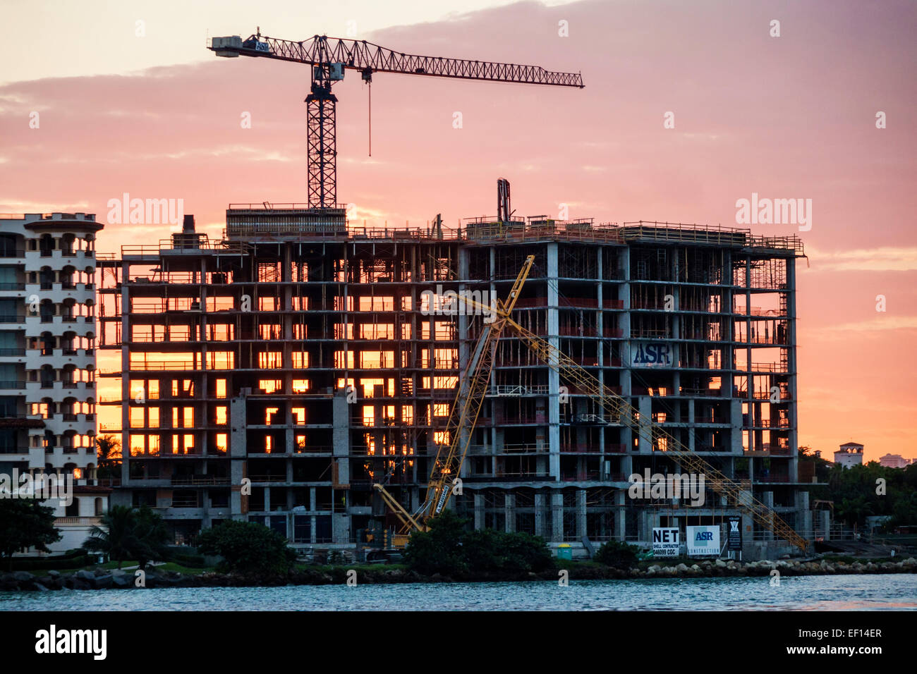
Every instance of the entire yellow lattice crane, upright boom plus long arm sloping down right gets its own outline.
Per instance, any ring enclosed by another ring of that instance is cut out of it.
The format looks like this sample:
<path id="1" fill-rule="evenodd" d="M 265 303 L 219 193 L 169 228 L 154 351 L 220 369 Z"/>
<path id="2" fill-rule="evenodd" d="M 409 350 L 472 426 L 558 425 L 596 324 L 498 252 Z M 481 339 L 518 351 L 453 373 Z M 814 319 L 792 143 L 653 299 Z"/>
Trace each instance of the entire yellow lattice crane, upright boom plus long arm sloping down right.
<path id="1" fill-rule="evenodd" d="M 746 514 L 749 514 L 757 523 L 757 525 L 773 532 L 775 536 L 779 536 L 779 538 L 787 541 L 790 543 L 790 545 L 799 547 L 804 554 L 809 547 L 809 541 L 794 531 L 793 528 L 784 522 L 777 513 L 768 507 L 766 503 L 762 503 L 761 501 L 757 500 L 751 492 L 742 490 L 741 487 L 735 483 L 735 481 L 727 478 L 722 471 L 714 468 L 708 461 L 702 459 L 702 457 L 698 456 L 695 452 L 692 452 L 689 447 L 685 447 L 678 438 L 672 436 L 661 425 L 653 424 L 651 419 L 641 418 L 639 412 L 633 405 L 628 403 L 622 396 L 610 391 L 608 388 L 603 386 L 602 382 L 597 380 L 591 374 L 591 372 L 589 372 L 589 370 L 581 367 L 579 363 L 569 358 L 569 356 L 552 345 L 546 339 L 537 337 L 534 333 L 530 332 L 525 327 L 520 326 L 512 318 L 510 318 L 509 313 L 512 311 L 513 305 L 515 304 L 515 296 L 518 294 L 518 290 L 521 288 L 522 282 L 525 282 L 525 277 L 528 276 L 528 272 L 531 270 L 533 260 L 534 256 L 529 256 L 529 258 L 526 260 L 523 271 L 520 272 L 519 277 L 514 283 L 514 290 L 510 293 L 508 302 L 501 305 L 501 311 L 498 312 L 498 317 L 494 321 L 494 324 L 499 323 L 498 331 L 496 333 L 485 332 L 479 340 L 479 346 L 481 346 L 481 343 L 485 340 L 495 344 L 494 340 L 499 339 L 503 329 L 506 326 L 511 326 L 514 328 L 516 336 L 522 340 L 525 346 L 532 350 L 540 359 L 542 359 L 549 368 L 557 371 L 559 376 L 573 383 L 580 390 L 586 392 L 592 400 L 594 400 L 596 403 L 599 403 L 602 408 L 609 414 L 610 421 L 622 423 L 629 426 L 638 436 L 646 439 L 646 441 L 650 443 L 651 447 L 657 445 L 659 440 L 662 440 L 666 447 L 665 456 L 669 459 L 674 459 L 682 470 L 686 470 L 698 475 L 703 475 L 704 481 L 710 484 L 713 492 L 725 496 L 727 501 L 735 503 L 737 507 L 742 509 Z M 470 304 L 478 304 L 470 299 L 465 299 L 465 302 Z M 481 304 L 478 304 L 478 306 L 480 307 Z M 476 349 L 476 354 L 477 353 L 478 350 Z M 468 370 L 466 370 L 467 373 L 470 372 L 470 367 Z M 491 369 L 492 361 L 488 360 L 486 371 L 481 369 L 474 370 L 474 377 L 470 379 L 466 375 L 465 386 L 467 388 L 473 389 L 476 392 L 480 391 L 480 394 L 474 408 L 473 419 L 469 425 L 461 425 L 463 421 L 467 423 L 468 418 L 468 415 L 463 412 L 462 414 L 458 415 L 456 422 L 457 425 L 455 430 L 453 430 L 453 426 L 451 425 L 452 417 L 450 416 L 449 428 L 452 432 L 452 435 L 449 436 L 451 443 L 448 456 L 455 456 L 455 449 L 458 448 L 459 435 L 462 435 L 466 439 L 462 445 L 461 459 L 458 459 L 458 463 L 455 464 L 455 470 L 448 473 L 448 475 L 455 475 L 458 477 L 458 470 L 461 468 L 461 461 L 465 457 L 464 452 L 467 451 L 468 448 L 468 437 L 470 436 L 471 429 L 474 427 L 474 422 L 477 421 L 478 412 L 480 412 L 481 403 L 483 402 L 483 392 L 486 390 L 487 383 L 490 381 Z M 482 380 L 481 377 L 483 377 Z M 456 397 L 456 406 L 453 408 L 453 416 L 455 415 L 455 410 L 458 408 L 458 403 L 461 400 L 461 391 L 462 388 L 459 386 L 459 395 Z M 466 405 L 467 404 L 468 403 L 466 403 Z M 466 428 L 467 430 L 464 430 Z M 437 455 L 437 464 L 438 462 L 439 456 Z M 453 464 L 449 464 L 450 468 L 452 465 Z M 436 465 L 434 466 L 434 474 L 437 474 Z M 445 485 L 445 477 L 445 475 L 441 474 L 438 481 L 435 482 L 433 476 L 431 476 L 430 487 L 427 492 L 427 503 L 425 503 L 425 509 L 422 509 L 421 511 L 422 514 L 425 514 L 422 522 L 417 522 L 414 520 L 414 518 L 407 514 L 401 507 L 401 504 L 394 501 L 394 499 L 391 497 L 391 494 L 385 492 L 381 485 L 375 486 L 382 493 L 383 498 L 386 496 L 388 497 L 386 498 L 386 503 L 389 503 L 389 505 L 395 511 L 395 514 L 399 515 L 408 530 L 425 531 L 426 521 L 429 519 L 429 517 L 436 516 L 436 514 L 439 514 L 442 511 L 442 507 L 440 506 L 433 512 L 430 512 L 426 506 L 428 503 L 430 503 L 431 494 L 442 493 Z M 451 492 L 451 489 L 446 491 Z M 440 500 L 442 505 L 445 505 L 448 500 L 448 494 L 441 496 Z M 405 517 L 404 515 L 407 516 Z"/>

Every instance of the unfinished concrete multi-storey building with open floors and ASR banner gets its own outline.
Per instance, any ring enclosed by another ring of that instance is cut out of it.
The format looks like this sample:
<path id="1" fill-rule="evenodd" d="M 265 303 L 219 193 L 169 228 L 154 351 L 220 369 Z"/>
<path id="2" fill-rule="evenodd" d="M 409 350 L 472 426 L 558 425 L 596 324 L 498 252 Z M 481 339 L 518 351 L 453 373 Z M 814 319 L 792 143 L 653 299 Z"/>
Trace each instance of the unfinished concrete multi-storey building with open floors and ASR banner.
<path id="1" fill-rule="evenodd" d="M 383 230 L 348 227 L 343 209 L 231 204 L 218 241 L 186 216 L 181 234 L 99 260 L 100 347 L 121 354 L 102 373 L 120 384 L 102 400 L 121 411 L 113 503 L 158 509 L 177 542 L 227 518 L 313 549 L 396 530 L 372 485 L 420 507 L 487 320 L 439 300 L 503 298 L 534 255 L 514 320 L 668 435 L 635 433 L 507 332 L 449 506 L 476 527 L 587 549 L 743 514 L 709 485 L 702 506 L 629 497 L 632 474 L 679 471 L 675 437 L 811 532 L 812 475 L 797 462 L 802 254 L 795 236 L 508 209 L 456 230 Z M 742 528 L 746 558 L 781 549 L 751 518 Z"/>

